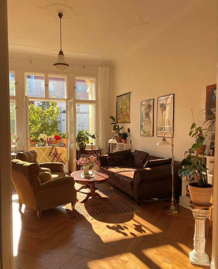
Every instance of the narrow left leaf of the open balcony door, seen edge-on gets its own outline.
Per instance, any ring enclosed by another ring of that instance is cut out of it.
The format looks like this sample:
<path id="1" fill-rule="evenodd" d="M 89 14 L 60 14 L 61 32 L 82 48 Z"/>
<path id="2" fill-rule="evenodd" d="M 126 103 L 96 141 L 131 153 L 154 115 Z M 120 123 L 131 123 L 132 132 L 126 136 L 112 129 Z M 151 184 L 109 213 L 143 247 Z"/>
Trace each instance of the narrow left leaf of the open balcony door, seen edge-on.
<path id="1" fill-rule="evenodd" d="M 29 106 L 27 96 L 23 99 L 23 139 L 24 151 L 29 151 Z"/>

